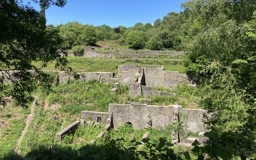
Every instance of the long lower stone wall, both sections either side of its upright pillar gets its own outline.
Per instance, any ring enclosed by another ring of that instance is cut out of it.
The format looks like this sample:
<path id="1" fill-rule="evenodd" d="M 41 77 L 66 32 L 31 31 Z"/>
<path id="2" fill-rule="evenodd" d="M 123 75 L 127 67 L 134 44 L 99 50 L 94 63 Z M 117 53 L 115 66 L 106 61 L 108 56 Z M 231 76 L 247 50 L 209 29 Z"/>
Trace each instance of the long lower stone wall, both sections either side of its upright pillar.
<path id="1" fill-rule="evenodd" d="M 179 105 L 157 106 L 131 103 L 110 104 L 109 113 L 113 115 L 113 127 L 129 122 L 135 129 L 142 129 L 150 120 L 152 127 L 163 129 L 179 119 L 187 131 L 200 133 L 205 131 L 203 119 L 207 111 L 183 109 Z"/>

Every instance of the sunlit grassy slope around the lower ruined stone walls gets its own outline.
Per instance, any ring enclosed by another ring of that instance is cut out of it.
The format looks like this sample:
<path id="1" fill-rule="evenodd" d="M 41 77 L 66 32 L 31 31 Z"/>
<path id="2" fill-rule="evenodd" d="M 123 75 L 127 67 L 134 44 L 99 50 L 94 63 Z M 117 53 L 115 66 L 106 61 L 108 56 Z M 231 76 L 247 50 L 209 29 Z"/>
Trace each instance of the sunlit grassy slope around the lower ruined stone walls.
<path id="1" fill-rule="evenodd" d="M 53 146 L 58 146 L 62 149 L 70 147 L 71 149 L 75 149 L 75 151 L 83 149 L 91 139 L 95 139 L 95 137 L 103 131 L 102 126 L 81 126 L 77 129 L 74 135 L 66 136 L 61 142 L 56 140 L 55 135 L 61 131 L 61 129 L 64 129 L 67 125 L 79 119 L 82 110 L 107 111 L 109 103 L 123 103 L 123 101 L 126 101 L 127 99 L 130 100 L 127 87 L 121 87 L 118 94 L 114 95 L 109 93 L 111 88 L 112 84 L 101 84 L 97 81 L 91 81 L 89 83 L 75 81 L 73 83 L 60 84 L 57 87 L 53 87 L 53 90 L 48 96 L 45 96 L 41 91 L 37 91 L 35 94 L 39 96 L 39 99 L 46 99 L 48 103 L 45 103 L 43 106 L 39 105 L 35 107 L 35 118 L 33 119 L 27 134 L 23 138 L 21 153 L 27 155 L 28 153 L 33 153 L 33 150 L 40 150 L 40 147 L 49 149 L 49 147 Z M 189 91 L 189 87 L 184 85 L 177 89 L 177 94 L 191 99 L 189 96 L 195 96 L 196 89 L 194 89 L 193 92 Z M 169 105 L 174 101 L 174 99 L 171 99 L 170 97 L 149 98 L 153 99 L 153 104 L 167 103 L 166 105 Z M 41 101 L 39 101 L 39 104 L 40 103 Z M 13 109 L 13 111 L 15 114 L 24 112 L 22 109 L 17 108 Z M 8 118 L 8 112 L 3 115 L 11 121 L 11 119 Z M 21 117 L 21 119 L 24 119 L 24 116 Z M 24 123 L 17 122 L 19 121 L 16 121 L 15 124 L 17 125 L 13 126 L 13 131 L 15 131 L 14 134 L 16 134 L 13 135 L 13 139 L 15 140 L 6 139 L 3 141 L 4 143 L 0 142 L 0 144 L 3 145 L 7 145 L 7 143 L 11 145 L 9 148 L 3 148 L 5 153 L 9 153 L 15 147 L 19 134 L 24 127 Z M 9 128 L 9 130 L 10 129 L 11 128 Z M 158 141 L 159 137 L 167 137 L 168 141 L 171 141 L 169 131 L 158 131 L 156 129 L 149 129 L 149 131 L 149 138 L 152 142 Z M 121 127 L 120 129 L 111 131 L 109 135 L 113 139 L 123 137 L 127 141 L 129 141 L 131 135 L 134 135 L 135 139 L 140 141 L 143 133 L 145 133 L 145 130 L 143 129 L 133 130 L 129 127 Z M 11 133 L 9 135 L 11 135 Z M 129 145 L 127 141 L 124 145 Z M 104 143 L 104 141 L 99 141 L 97 145 L 104 145 Z M 30 156 L 32 155 L 29 155 L 29 157 Z"/>

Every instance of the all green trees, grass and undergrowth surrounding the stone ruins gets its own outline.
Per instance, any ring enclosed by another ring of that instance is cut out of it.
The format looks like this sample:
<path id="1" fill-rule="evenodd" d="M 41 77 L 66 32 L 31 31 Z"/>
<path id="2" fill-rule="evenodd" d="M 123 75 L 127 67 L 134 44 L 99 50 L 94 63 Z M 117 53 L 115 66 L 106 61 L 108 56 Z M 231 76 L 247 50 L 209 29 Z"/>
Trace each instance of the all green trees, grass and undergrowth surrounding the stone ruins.
<path id="1" fill-rule="evenodd" d="M 55 133 L 71 123 L 82 109 L 106 111 L 108 103 L 122 103 L 129 99 L 127 89 L 110 95 L 111 85 L 98 82 L 85 84 L 73 82 L 47 90 L 49 95 L 41 94 L 49 104 L 45 101 L 45 105 L 36 110 L 37 117 L 29 128 L 25 142 L 23 141 L 23 154 L 27 153 L 25 157 L 34 159 L 58 159 L 59 157 L 64 159 L 256 159 L 255 1 L 191 0 L 183 3 L 181 13 L 169 13 L 162 20 L 157 19 L 153 25 L 137 23 L 133 27 L 119 26 L 115 29 L 107 25 L 93 27 L 77 22 L 58 27 L 46 27 L 45 9 L 49 7 L 47 4 L 53 1 L 45 2 L 47 2 L 46 5 L 41 6 L 43 10 L 38 13 L 31 7 L 20 6 L 17 1 L 1 1 L 0 16 L 3 21 L 0 27 L 3 32 L 0 39 L 0 71 L 18 70 L 20 72 L 14 77 L 21 80 L 11 81 L 13 85 L 9 85 L 1 77 L 1 104 L 5 104 L 7 97 L 12 96 L 25 107 L 27 102 L 25 95 L 35 89 L 38 81 L 49 89 L 51 77 L 38 69 L 41 67 L 53 69 L 53 64 L 47 65 L 53 60 L 56 60 L 57 66 L 65 67 L 67 64 L 65 57 L 56 52 L 62 47 L 73 49 L 78 54 L 83 52 L 85 45 L 96 45 L 97 41 L 101 41 L 99 44 L 109 45 L 107 42 L 102 42 L 108 40 L 117 42 L 115 46 L 125 49 L 145 49 L 146 47 L 157 50 L 184 50 L 187 55 L 185 60 L 187 74 L 193 78 L 193 81 L 199 83 L 199 87 L 180 85 L 176 89 L 177 101 L 185 107 L 200 106 L 209 110 L 211 116 L 206 122 L 209 131 L 205 136 L 211 143 L 200 145 L 195 141 L 192 153 L 177 153 L 173 150 L 169 139 L 151 138 L 152 141 L 145 141 L 145 147 L 141 148 L 140 139 L 137 139 L 141 132 L 135 132 L 127 126 L 111 131 L 99 145 L 77 144 L 87 143 L 89 139 L 85 136 L 85 140 L 80 141 L 78 135 L 81 135 L 81 132 L 86 131 L 94 136 L 101 127 L 89 128 L 89 130 L 81 127 L 75 133 L 77 135 L 67 136 L 65 141 L 58 143 L 54 139 Z M 62 2 L 60 6 L 65 5 L 65 1 Z M 56 5 L 56 3 L 53 4 Z M 13 25 L 15 27 L 9 27 Z M 62 39 L 57 35 L 58 32 Z M 62 40 L 64 40 L 63 43 Z M 69 61 L 70 66 L 77 71 L 114 71 L 120 64 L 136 62 L 142 66 L 163 64 L 167 70 L 175 69 L 185 72 L 181 65 L 167 63 L 171 59 L 160 61 L 161 58 L 154 60 L 148 58 L 149 60 L 145 61 L 72 57 Z M 87 65 L 81 65 L 82 63 Z M 36 77 L 29 73 L 30 69 L 37 73 Z M 171 97 L 152 97 L 152 99 L 152 103 L 157 104 L 174 101 Z M 7 108 L 5 111 L 12 111 L 12 109 Z M 27 113 L 17 109 L 14 113 L 17 114 L 16 111 L 22 113 L 21 118 L 13 117 L 12 119 L 5 111 L 1 113 L 3 117 L 1 121 L 11 125 L 9 128 L 1 127 L 0 130 L 1 137 L 4 137 L 0 144 L 7 146 L 3 148 L 1 156 L 8 154 L 6 159 L 13 159 L 13 157 L 19 157 L 12 155 L 13 139 L 17 139 L 24 125 L 22 122 L 17 123 L 17 120 L 23 119 Z M 151 133 L 153 132 L 152 130 Z M 13 139 L 9 139 L 3 133 Z M 136 140 L 128 140 L 132 134 Z M 156 131 L 155 135 L 160 133 Z M 116 138 L 112 139 L 111 136 Z M 166 135 L 163 134 L 163 136 Z"/>

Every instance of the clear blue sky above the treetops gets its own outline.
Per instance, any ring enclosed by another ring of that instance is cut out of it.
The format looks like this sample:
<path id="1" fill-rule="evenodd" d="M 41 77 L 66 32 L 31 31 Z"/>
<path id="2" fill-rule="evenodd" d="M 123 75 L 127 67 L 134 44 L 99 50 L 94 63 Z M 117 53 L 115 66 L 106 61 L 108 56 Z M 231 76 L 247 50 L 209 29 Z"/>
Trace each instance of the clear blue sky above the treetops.
<path id="1" fill-rule="evenodd" d="M 23 0 L 27 3 L 29 0 Z M 123 25 L 153 23 L 171 11 L 180 12 L 186 0 L 67 0 L 64 8 L 51 6 L 46 11 L 47 24 L 78 21 L 89 25 Z M 39 9 L 39 5 L 31 3 Z"/>

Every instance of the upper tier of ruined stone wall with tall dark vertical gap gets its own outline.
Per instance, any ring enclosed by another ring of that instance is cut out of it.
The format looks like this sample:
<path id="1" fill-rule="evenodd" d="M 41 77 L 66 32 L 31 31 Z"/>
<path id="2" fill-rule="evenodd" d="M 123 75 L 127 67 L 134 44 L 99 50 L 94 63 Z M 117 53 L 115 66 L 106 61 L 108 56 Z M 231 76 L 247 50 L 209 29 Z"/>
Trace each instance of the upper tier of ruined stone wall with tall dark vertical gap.
<path id="1" fill-rule="evenodd" d="M 91 72 L 78 73 L 77 76 L 68 75 L 65 72 L 59 72 L 59 81 L 90 81 L 97 80 L 103 83 L 115 83 L 117 85 L 127 85 L 130 87 L 130 95 L 171 95 L 166 91 L 156 91 L 154 87 L 175 88 L 181 83 L 193 85 L 186 74 L 177 71 L 164 71 L 163 66 L 151 65 L 145 68 L 139 65 L 119 65 L 118 73 L 112 72 Z M 115 93 L 117 87 L 113 87 L 111 92 Z"/>

